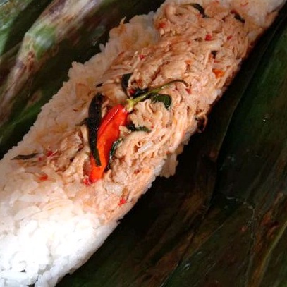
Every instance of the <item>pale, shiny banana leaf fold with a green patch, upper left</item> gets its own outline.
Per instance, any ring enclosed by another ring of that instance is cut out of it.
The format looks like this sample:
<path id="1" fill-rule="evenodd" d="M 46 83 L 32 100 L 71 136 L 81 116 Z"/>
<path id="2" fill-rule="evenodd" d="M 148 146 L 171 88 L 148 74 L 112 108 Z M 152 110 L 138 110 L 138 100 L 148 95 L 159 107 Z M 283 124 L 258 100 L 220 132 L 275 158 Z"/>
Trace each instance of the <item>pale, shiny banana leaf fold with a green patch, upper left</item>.
<path id="1" fill-rule="evenodd" d="M 28 94 L 30 91 L 21 94 L 22 88 L 31 85 L 28 80 L 44 64 L 49 65 L 49 59 L 57 54 L 63 39 L 67 37 L 71 39 L 71 33 L 79 26 L 83 26 L 85 17 L 97 8 L 97 1 L 54 0 L 44 10 L 44 13 L 25 33 L 15 64 L 8 73 L 5 84 L 1 86 L 0 120 L 2 123 L 8 118 L 13 118 L 13 114 L 19 114 L 19 109 L 25 112 L 25 105 L 31 104 L 29 99 L 32 96 Z M 72 41 L 77 42 L 76 35 L 73 36 Z M 32 97 L 32 103 L 34 102 L 37 100 Z"/>

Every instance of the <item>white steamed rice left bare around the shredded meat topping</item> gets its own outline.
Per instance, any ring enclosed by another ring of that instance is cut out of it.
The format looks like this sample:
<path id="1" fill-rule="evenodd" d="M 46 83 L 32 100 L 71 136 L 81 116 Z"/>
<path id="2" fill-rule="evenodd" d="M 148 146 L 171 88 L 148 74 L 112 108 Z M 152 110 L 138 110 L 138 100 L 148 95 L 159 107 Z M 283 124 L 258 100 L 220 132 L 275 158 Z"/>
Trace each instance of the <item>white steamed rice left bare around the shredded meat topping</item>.
<path id="1" fill-rule="evenodd" d="M 246 9 L 243 2 L 247 1 L 221 0 L 224 5 Z M 283 1 L 248 2 L 248 13 L 264 26 L 267 13 Z M 43 142 L 56 142 L 63 132 L 82 121 L 85 115 L 73 110 L 83 110 L 86 101 L 77 97 L 75 83 L 83 83 L 92 90 L 94 79 L 102 81 L 111 61 L 121 51 L 130 49 L 130 43 L 136 50 L 156 42 L 158 35 L 152 25 L 153 16 L 154 13 L 135 16 L 125 25 L 126 32 L 117 35 L 111 31 L 111 38 L 101 47 L 101 53 L 84 64 L 73 63 L 68 82 L 43 107 L 23 141 L 1 160 L 0 287 L 33 283 L 36 287 L 55 286 L 61 277 L 80 267 L 116 228 L 118 222 L 102 224 L 92 209 L 83 207 L 77 197 L 80 188 L 76 183 L 65 183 L 63 178 L 49 170 L 51 180 L 41 182 L 32 171 L 19 168 L 11 159 L 18 154 L 41 151 Z M 173 173 L 176 158 L 171 157 L 171 161 Z"/>

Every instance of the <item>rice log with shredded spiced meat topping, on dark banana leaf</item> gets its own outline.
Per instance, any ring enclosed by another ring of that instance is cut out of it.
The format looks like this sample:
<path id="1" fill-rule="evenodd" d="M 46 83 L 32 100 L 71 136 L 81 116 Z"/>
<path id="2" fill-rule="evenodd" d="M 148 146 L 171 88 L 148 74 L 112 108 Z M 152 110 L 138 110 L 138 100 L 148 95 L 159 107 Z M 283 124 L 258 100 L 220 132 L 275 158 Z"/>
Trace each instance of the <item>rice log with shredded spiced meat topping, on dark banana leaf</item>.
<path id="1" fill-rule="evenodd" d="M 204 128 L 281 2 L 166 1 L 111 30 L 102 53 L 73 63 L 70 80 L 0 163 L 0 286 L 55 286 L 99 248 L 156 176 L 175 172 L 176 154 Z M 94 95 L 104 97 L 104 116 L 136 91 L 172 81 L 161 90 L 169 109 L 150 97 L 136 104 L 128 122 L 146 130 L 121 126 L 110 169 L 91 182 L 83 121 Z"/>

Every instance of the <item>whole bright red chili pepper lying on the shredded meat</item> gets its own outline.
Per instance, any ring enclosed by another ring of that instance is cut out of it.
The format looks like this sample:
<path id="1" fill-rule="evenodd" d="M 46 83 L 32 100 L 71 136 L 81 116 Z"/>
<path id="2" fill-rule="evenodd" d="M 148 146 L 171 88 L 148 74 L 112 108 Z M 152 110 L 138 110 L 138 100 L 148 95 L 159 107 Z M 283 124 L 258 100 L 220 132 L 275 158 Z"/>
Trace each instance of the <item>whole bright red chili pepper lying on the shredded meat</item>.
<path id="1" fill-rule="evenodd" d="M 99 151 L 99 159 L 101 165 L 97 166 L 94 157 L 90 156 L 91 172 L 90 181 L 95 181 L 102 178 L 102 174 L 109 164 L 109 152 L 113 143 L 118 140 L 120 135 L 120 126 L 126 126 L 128 111 L 121 104 L 113 106 L 106 116 L 102 118 L 97 132 L 97 149 Z"/>

